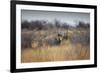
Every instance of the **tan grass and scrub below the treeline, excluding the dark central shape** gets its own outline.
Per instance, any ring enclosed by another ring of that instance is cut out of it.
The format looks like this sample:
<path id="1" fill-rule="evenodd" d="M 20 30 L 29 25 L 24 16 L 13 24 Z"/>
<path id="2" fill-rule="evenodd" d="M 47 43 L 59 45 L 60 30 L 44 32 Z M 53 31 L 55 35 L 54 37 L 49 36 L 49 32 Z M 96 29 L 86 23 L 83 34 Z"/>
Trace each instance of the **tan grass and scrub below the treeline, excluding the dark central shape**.
<path id="1" fill-rule="evenodd" d="M 22 44 L 21 62 L 69 61 L 90 58 L 90 46 L 87 43 L 89 30 L 59 29 L 58 31 L 66 33 L 66 39 L 61 40 L 60 44 L 50 45 L 47 40 L 57 37 L 57 30 L 23 30 L 22 41 L 25 44 Z"/>

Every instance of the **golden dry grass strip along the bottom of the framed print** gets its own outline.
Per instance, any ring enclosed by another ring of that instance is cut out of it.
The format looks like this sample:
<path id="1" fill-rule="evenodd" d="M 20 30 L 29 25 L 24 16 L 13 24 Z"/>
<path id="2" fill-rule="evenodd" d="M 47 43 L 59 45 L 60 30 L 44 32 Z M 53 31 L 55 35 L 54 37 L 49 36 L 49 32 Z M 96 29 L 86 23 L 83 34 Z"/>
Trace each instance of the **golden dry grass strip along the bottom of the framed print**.
<path id="1" fill-rule="evenodd" d="M 90 58 L 89 46 L 80 43 L 72 45 L 69 40 L 59 46 L 42 46 L 36 49 L 22 50 L 21 62 L 45 62 L 45 61 L 68 61 L 85 60 Z"/>

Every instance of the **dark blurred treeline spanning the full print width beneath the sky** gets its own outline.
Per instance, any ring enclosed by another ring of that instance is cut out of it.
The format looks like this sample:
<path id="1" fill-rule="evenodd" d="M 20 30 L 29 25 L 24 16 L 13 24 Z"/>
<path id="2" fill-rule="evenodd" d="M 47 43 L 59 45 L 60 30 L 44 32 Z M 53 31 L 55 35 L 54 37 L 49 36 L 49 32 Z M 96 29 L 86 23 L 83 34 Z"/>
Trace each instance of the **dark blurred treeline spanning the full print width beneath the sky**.
<path id="1" fill-rule="evenodd" d="M 41 30 L 41 29 L 51 29 L 51 28 L 64 28 L 64 29 L 85 28 L 87 29 L 87 28 L 90 28 L 90 24 L 79 21 L 78 24 L 74 27 L 74 26 L 71 26 L 71 24 L 68 24 L 65 22 L 62 23 L 58 20 L 55 20 L 54 22 L 48 22 L 44 20 L 35 20 L 35 21 L 28 22 L 27 20 L 25 20 L 21 23 L 21 28 L 28 29 L 28 30 L 33 30 L 33 29 Z"/>

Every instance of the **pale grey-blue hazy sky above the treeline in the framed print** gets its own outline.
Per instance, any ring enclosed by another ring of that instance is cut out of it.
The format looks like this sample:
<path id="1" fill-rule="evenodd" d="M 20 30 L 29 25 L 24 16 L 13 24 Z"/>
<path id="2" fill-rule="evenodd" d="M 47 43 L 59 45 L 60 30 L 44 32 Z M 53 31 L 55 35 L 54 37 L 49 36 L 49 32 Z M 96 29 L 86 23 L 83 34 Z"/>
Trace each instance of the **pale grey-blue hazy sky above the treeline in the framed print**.
<path id="1" fill-rule="evenodd" d="M 67 22 L 72 26 L 78 21 L 90 23 L 89 13 L 76 12 L 55 12 L 55 11 L 36 11 L 36 10 L 21 10 L 21 18 L 23 20 L 47 20 L 53 22 L 55 19 L 61 22 Z"/>

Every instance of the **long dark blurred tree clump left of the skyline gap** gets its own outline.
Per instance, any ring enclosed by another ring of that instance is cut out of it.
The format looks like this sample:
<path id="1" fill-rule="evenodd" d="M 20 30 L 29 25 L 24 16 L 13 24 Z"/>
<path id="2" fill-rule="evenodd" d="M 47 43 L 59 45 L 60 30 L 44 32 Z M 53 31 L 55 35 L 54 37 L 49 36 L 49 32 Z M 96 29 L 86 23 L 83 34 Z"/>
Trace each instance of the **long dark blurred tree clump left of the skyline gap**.
<path id="1" fill-rule="evenodd" d="M 54 20 L 54 22 L 43 21 L 43 20 L 35 20 L 28 22 L 27 20 L 22 21 L 21 28 L 28 30 L 47 30 L 51 28 L 64 28 L 68 29 L 69 25 L 65 22 L 60 22 L 58 20 Z"/>

